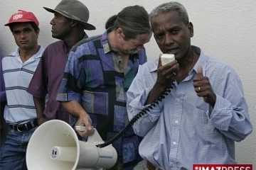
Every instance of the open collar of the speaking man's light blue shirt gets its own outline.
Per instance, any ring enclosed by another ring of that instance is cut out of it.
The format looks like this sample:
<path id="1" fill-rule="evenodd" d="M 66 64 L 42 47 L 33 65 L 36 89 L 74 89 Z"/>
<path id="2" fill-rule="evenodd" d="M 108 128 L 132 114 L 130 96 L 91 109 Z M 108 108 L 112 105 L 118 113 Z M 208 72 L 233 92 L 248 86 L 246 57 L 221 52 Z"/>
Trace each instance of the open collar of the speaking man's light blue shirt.
<path id="1" fill-rule="evenodd" d="M 197 73 L 198 67 L 201 65 L 203 68 L 203 75 L 205 75 L 207 57 L 206 57 L 206 55 L 203 54 L 200 47 L 196 47 L 193 45 L 191 45 L 191 47 L 192 47 L 192 50 L 199 55 L 198 61 L 194 65 L 193 70 Z M 158 63 L 158 60 L 157 60 L 157 63 Z M 158 64 L 156 64 L 156 66 L 153 69 L 151 69 L 150 72 L 156 72 L 157 66 L 158 66 Z"/>

